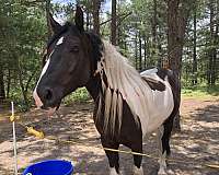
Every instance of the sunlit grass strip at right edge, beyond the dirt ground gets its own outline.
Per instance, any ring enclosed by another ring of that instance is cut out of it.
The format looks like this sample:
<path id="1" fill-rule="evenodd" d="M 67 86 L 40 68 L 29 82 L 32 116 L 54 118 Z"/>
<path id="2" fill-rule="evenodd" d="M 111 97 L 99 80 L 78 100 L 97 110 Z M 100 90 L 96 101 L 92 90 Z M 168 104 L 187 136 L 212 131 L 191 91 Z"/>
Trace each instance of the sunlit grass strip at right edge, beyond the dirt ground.
<path id="1" fill-rule="evenodd" d="M 196 97 L 196 98 L 210 98 L 219 97 L 219 85 L 208 86 L 193 86 L 182 89 L 183 97 Z"/>

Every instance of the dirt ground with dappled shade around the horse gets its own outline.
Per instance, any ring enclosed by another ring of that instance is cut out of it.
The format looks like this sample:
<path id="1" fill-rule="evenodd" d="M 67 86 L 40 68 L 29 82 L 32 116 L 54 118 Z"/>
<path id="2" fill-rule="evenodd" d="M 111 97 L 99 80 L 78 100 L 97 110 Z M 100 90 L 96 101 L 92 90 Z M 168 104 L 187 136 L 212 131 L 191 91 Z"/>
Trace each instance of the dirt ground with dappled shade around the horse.
<path id="1" fill-rule="evenodd" d="M 27 135 L 16 124 L 18 161 L 20 173 L 33 163 L 49 159 L 71 161 L 78 175 L 107 175 L 107 160 L 101 148 L 100 137 L 92 119 L 92 103 L 72 104 L 60 108 L 60 117 L 46 117 L 44 112 L 33 109 L 21 115 L 20 122 L 43 130 L 45 139 Z M 3 115 L 4 114 L 4 115 Z M 170 175 L 219 175 L 219 168 L 206 164 L 219 164 L 219 98 L 183 100 L 182 131 L 172 137 Z M 76 141 L 64 143 L 49 137 Z M 120 147 L 123 150 L 128 150 Z M 154 136 L 143 142 L 145 153 L 157 156 Z M 132 156 L 120 154 L 123 174 L 131 175 Z M 143 158 L 145 175 L 155 175 L 157 160 Z M 0 108 L 0 175 L 13 174 L 12 124 Z"/>

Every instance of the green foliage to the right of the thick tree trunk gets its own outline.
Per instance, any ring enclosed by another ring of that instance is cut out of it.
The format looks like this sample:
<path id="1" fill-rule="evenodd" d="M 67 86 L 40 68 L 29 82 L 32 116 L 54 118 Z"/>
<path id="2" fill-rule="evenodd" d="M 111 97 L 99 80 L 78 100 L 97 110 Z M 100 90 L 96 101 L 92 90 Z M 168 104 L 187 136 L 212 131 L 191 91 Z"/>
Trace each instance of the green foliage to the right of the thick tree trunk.
<path id="1" fill-rule="evenodd" d="M 212 10 L 210 12 L 210 5 Z M 195 74 L 193 72 L 193 58 L 194 58 L 194 14 L 196 12 L 197 28 L 196 28 L 196 57 L 197 57 L 197 79 L 198 84 L 209 83 L 209 74 L 212 77 L 217 84 L 219 75 L 219 35 L 217 28 L 219 27 L 219 1 L 217 0 L 197 0 L 194 4 L 189 16 L 188 30 L 186 34 L 186 42 L 183 56 L 183 71 L 182 78 L 184 85 L 189 86 L 194 80 Z M 210 16 L 210 13 L 214 15 Z M 211 19 L 211 20 L 210 20 Z M 210 26 L 214 26 L 212 28 Z M 216 52 L 216 60 L 210 61 L 214 52 Z"/>

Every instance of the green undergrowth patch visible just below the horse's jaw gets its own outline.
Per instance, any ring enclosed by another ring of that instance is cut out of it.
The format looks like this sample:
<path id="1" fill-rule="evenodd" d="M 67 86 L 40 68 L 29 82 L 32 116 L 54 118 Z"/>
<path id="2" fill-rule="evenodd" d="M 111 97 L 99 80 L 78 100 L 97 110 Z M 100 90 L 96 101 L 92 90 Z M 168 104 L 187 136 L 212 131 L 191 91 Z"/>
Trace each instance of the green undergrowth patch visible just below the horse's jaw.
<path id="1" fill-rule="evenodd" d="M 73 102 L 82 103 L 82 102 L 88 102 L 89 100 L 91 100 L 90 94 L 88 93 L 85 88 L 81 88 L 78 89 L 76 92 L 71 93 L 70 95 L 66 96 L 64 103 L 66 105 L 69 105 Z"/>

